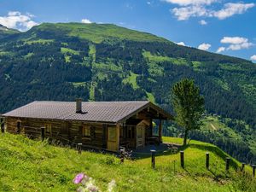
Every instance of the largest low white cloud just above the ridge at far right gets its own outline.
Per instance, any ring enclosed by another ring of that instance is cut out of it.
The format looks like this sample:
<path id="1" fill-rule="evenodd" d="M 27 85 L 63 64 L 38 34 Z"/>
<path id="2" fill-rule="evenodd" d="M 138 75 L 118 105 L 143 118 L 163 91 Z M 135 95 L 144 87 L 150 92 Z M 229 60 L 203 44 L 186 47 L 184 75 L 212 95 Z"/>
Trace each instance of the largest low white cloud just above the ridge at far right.
<path id="1" fill-rule="evenodd" d="M 250 43 L 247 38 L 242 37 L 224 37 L 220 40 L 222 44 L 230 44 L 227 50 L 240 50 L 248 49 L 253 46 L 253 43 Z"/>

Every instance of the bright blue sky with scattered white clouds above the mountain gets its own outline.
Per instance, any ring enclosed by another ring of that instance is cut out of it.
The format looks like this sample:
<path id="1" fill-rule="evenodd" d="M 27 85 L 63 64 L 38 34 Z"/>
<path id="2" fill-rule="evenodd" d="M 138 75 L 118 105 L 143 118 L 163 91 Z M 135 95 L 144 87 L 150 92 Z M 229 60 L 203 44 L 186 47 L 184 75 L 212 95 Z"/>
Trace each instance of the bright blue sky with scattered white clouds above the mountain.
<path id="1" fill-rule="evenodd" d="M 0 24 L 21 31 L 82 20 L 256 61 L 255 0 L 0 0 Z"/>

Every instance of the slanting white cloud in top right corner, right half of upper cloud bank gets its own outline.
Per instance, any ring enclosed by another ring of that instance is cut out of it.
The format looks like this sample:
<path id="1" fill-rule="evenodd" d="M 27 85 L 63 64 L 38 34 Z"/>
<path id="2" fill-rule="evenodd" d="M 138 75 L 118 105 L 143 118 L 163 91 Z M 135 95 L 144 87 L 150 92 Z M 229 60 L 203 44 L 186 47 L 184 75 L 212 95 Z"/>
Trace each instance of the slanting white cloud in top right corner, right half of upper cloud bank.
<path id="1" fill-rule="evenodd" d="M 224 9 L 214 12 L 213 15 L 219 20 L 224 20 L 236 14 L 243 14 L 247 9 L 253 8 L 254 6 L 254 3 L 225 3 Z"/>

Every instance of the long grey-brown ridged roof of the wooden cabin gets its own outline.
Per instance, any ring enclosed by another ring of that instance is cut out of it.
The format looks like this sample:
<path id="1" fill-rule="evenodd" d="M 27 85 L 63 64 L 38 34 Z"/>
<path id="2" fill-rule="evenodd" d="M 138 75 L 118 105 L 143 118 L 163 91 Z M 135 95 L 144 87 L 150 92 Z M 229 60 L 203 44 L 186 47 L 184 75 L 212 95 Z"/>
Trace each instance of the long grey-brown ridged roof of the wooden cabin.
<path id="1" fill-rule="evenodd" d="M 3 116 L 118 123 L 149 106 L 160 111 L 167 118 L 171 117 L 169 113 L 151 102 L 82 102 L 83 113 L 76 113 L 76 102 L 49 101 L 31 102 L 9 113 L 4 113 Z"/>

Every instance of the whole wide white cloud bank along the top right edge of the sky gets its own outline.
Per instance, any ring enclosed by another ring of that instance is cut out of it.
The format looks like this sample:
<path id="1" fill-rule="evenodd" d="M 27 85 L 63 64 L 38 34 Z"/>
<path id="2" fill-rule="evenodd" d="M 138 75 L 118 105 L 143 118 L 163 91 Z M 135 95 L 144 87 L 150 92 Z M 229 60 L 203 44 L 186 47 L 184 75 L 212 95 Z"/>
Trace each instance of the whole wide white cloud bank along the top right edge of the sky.
<path id="1" fill-rule="evenodd" d="M 170 9 L 172 14 L 177 17 L 177 20 L 189 20 L 190 17 L 202 16 L 215 17 L 218 18 L 218 20 L 224 20 L 233 15 L 241 15 L 245 13 L 247 9 L 251 9 L 255 6 L 255 3 L 225 3 L 223 9 L 215 10 L 210 4 L 218 1 L 168 0 L 168 2 L 183 2 L 177 3 L 179 7 Z"/>

